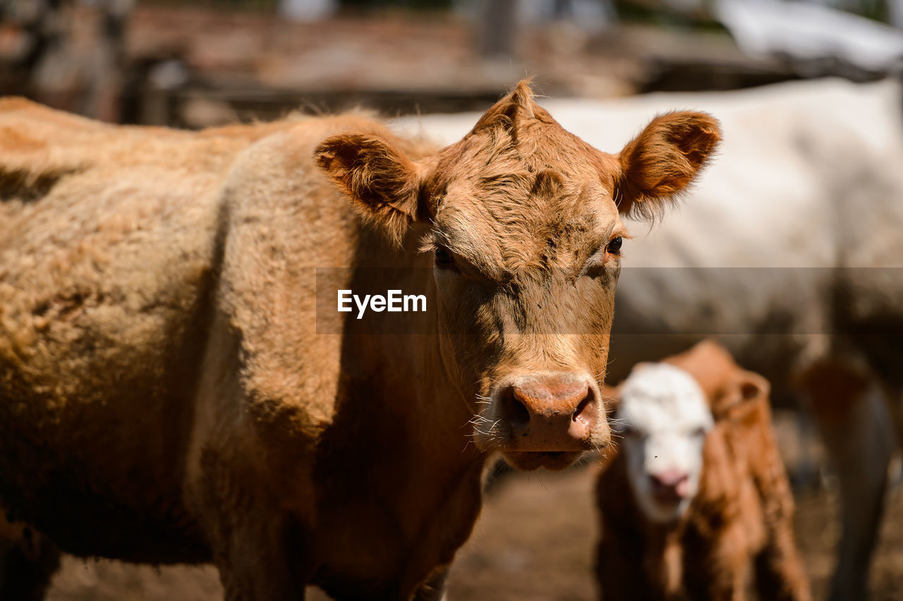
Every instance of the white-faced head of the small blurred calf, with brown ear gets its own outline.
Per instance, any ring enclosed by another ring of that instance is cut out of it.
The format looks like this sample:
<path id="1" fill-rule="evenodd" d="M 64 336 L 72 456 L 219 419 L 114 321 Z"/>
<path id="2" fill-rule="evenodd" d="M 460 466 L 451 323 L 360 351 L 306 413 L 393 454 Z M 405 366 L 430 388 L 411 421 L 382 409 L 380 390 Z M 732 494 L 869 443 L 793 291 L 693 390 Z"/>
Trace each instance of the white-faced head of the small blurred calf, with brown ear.
<path id="1" fill-rule="evenodd" d="M 628 481 L 650 522 L 681 518 L 700 486 L 709 432 L 760 427 L 768 389 L 709 340 L 664 363 L 639 364 L 608 389 Z"/>

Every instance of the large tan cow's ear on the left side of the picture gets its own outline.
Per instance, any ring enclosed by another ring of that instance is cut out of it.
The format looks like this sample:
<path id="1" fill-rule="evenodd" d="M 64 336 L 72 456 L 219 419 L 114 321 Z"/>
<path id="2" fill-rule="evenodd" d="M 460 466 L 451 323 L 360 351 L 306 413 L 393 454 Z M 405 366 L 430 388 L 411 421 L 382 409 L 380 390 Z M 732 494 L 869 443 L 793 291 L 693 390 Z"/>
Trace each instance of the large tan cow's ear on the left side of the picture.
<path id="1" fill-rule="evenodd" d="M 418 217 L 421 180 L 416 163 L 372 134 L 327 138 L 313 151 L 313 159 L 365 220 L 401 244 Z"/>

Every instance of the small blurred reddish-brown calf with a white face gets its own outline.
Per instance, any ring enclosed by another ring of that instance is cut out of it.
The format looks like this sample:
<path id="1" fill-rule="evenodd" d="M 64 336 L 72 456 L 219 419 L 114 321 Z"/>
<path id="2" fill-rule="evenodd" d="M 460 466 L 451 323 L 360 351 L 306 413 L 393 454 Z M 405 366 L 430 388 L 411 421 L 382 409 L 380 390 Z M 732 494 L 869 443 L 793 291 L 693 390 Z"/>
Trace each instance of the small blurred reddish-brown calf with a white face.
<path id="1" fill-rule="evenodd" d="M 703 341 L 617 389 L 624 440 L 597 486 L 609 599 L 809 599 L 768 381 Z"/>

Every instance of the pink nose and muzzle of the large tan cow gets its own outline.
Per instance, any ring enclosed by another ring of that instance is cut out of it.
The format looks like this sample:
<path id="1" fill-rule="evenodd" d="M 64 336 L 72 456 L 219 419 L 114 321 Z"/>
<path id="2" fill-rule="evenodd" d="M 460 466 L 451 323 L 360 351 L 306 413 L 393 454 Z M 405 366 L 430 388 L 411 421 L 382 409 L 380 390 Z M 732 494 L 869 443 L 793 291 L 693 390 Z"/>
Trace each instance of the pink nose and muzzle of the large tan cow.
<path id="1" fill-rule="evenodd" d="M 577 451 L 609 440 L 598 395 L 578 374 L 549 374 L 516 381 L 502 398 L 512 450 Z"/>

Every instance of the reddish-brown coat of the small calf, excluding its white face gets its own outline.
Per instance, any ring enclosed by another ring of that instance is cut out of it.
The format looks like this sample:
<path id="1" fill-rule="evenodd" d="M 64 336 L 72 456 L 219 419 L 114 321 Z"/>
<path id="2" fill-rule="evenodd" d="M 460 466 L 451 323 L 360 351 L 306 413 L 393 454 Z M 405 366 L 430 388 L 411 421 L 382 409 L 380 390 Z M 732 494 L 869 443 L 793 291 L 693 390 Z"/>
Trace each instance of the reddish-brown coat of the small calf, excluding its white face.
<path id="1" fill-rule="evenodd" d="M 678 522 L 648 522 L 633 500 L 623 456 L 609 459 L 597 485 L 602 598 L 742 599 L 753 575 L 760 599 L 811 598 L 771 428 L 768 382 L 711 341 L 666 362 L 694 376 L 715 417 L 699 491 Z M 607 392 L 617 399 L 615 389 Z"/>

